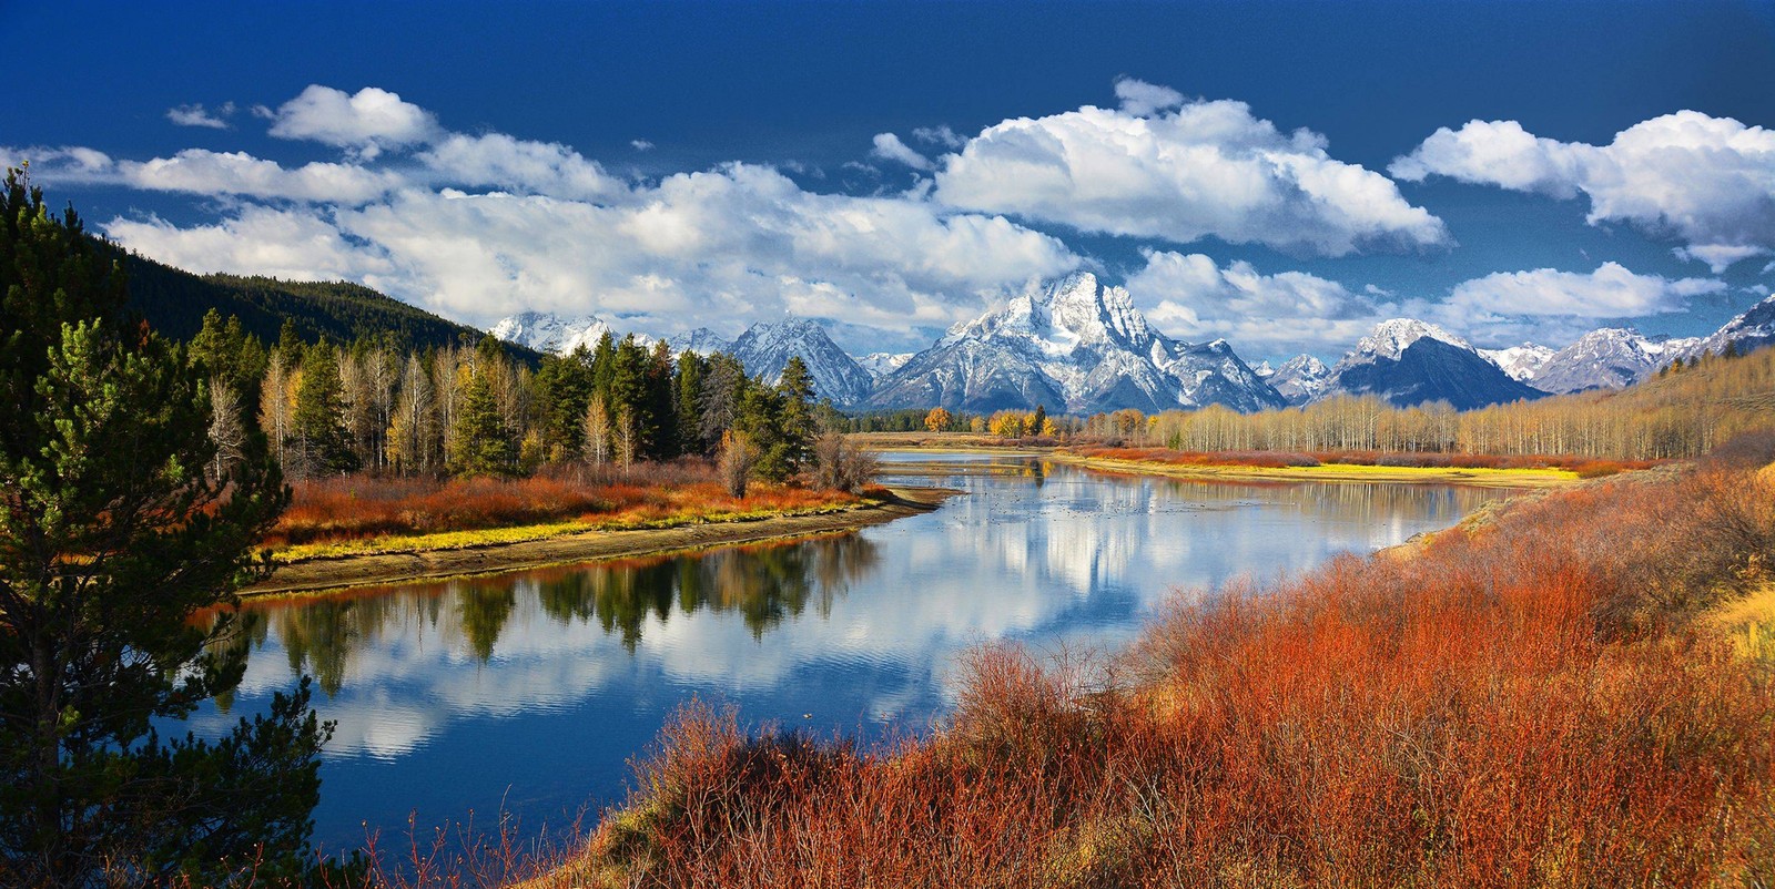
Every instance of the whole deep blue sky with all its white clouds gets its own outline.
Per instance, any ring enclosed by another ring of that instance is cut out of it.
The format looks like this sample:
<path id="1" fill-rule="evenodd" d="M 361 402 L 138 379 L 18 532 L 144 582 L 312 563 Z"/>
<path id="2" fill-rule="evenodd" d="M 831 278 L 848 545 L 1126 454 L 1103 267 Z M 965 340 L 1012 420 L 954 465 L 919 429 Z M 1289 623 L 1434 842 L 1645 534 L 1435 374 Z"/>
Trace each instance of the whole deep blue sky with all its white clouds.
<path id="1" fill-rule="evenodd" d="M 0 153 L 197 271 L 916 350 L 1030 279 L 1335 357 L 1775 284 L 1770 4 L 5 4 Z M 1470 124 L 1473 122 L 1473 124 Z M 1443 131 L 1445 130 L 1445 131 Z"/>

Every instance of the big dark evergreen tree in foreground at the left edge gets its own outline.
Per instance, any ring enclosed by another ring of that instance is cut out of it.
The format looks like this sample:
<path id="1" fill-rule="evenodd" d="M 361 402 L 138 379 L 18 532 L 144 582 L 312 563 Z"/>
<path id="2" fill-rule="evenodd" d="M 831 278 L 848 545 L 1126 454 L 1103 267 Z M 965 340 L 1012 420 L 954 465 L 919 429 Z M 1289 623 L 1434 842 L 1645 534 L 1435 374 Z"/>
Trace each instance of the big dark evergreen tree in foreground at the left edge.
<path id="1" fill-rule="evenodd" d="M 117 266 L 18 172 L 0 295 L 0 878 L 300 878 L 330 733 L 305 681 L 217 742 L 154 731 L 245 673 L 233 618 L 193 618 L 264 570 L 289 497 L 264 438 L 201 472 L 206 373 L 122 318 Z"/>

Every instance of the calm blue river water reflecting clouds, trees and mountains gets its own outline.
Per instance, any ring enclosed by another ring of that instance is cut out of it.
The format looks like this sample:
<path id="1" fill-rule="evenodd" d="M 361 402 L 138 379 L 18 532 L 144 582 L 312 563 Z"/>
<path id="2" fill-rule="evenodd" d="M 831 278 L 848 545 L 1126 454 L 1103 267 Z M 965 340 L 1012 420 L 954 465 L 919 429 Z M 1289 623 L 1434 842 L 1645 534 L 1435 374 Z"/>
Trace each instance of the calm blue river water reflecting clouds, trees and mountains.
<path id="1" fill-rule="evenodd" d="M 366 825 L 405 836 L 410 814 L 424 829 L 504 809 L 532 830 L 618 800 L 627 759 L 692 696 L 751 724 L 925 728 L 969 646 L 1115 648 L 1179 589 L 1402 543 L 1507 495 L 982 454 L 889 454 L 888 474 L 967 495 L 802 543 L 256 603 L 233 715 L 316 676 L 339 724 L 316 811 L 327 846 L 360 845 Z"/>

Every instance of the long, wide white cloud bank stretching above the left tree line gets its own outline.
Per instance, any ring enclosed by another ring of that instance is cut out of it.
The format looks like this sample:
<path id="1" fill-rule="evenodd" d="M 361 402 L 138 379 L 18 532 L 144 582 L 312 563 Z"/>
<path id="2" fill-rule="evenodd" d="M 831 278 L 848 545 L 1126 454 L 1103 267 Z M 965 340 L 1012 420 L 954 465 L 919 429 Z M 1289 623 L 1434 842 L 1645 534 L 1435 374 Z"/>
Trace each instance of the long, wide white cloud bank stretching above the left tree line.
<path id="1" fill-rule="evenodd" d="M 575 186 L 577 188 L 577 186 Z M 408 186 L 332 211 L 248 208 L 211 225 L 114 220 L 126 247 L 204 271 L 346 277 L 451 318 L 600 312 L 673 334 L 785 312 L 905 334 L 1077 264 L 1005 218 L 801 190 L 728 165 L 598 201 Z M 309 264 L 312 271 L 298 270 Z"/>

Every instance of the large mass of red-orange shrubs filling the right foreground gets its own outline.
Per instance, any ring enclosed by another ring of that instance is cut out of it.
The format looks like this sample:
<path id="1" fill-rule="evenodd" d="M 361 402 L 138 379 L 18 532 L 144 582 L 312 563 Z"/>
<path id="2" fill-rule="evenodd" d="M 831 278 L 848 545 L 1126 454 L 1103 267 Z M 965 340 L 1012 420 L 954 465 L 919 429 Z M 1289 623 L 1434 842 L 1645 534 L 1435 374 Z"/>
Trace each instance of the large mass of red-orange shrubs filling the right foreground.
<path id="1" fill-rule="evenodd" d="M 543 884 L 1770 885 L 1775 674 L 1693 618 L 1771 557 L 1722 458 L 1184 593 L 1116 658 L 983 649 L 923 738 L 694 704 Z"/>

